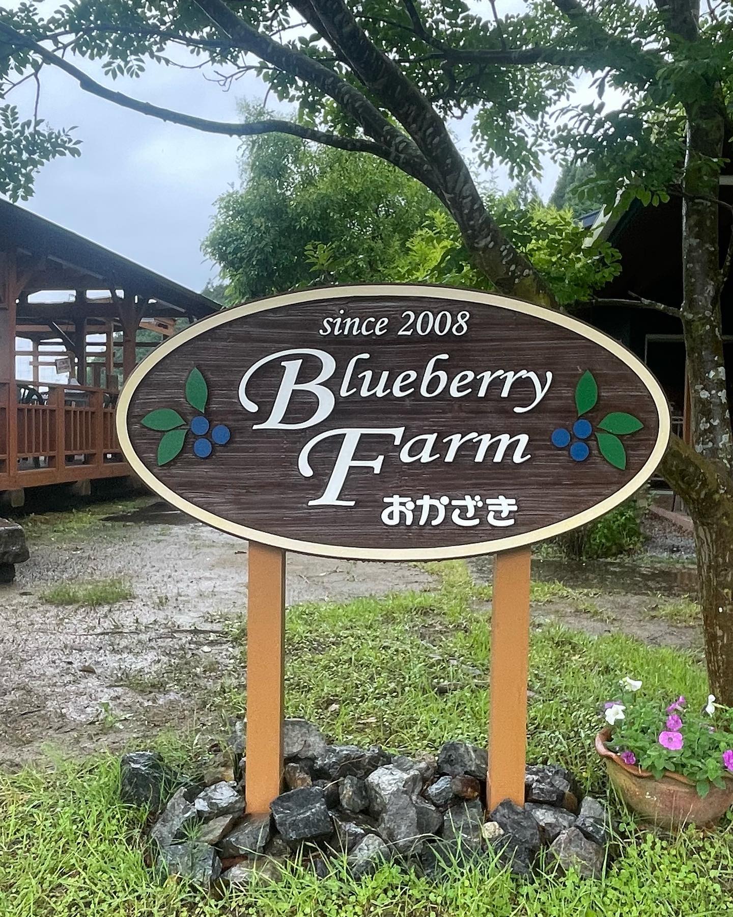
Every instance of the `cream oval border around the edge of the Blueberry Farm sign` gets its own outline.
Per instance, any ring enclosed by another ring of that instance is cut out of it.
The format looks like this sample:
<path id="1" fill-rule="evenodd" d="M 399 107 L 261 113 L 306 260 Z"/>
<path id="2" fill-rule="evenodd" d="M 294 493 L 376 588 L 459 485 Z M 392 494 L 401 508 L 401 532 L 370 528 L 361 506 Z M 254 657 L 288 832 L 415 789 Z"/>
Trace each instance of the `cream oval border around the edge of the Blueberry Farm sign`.
<path id="1" fill-rule="evenodd" d="M 509 309 L 512 312 L 520 312 L 525 315 L 532 315 L 543 322 L 550 322 L 553 325 L 559 325 L 568 328 L 574 334 L 591 340 L 599 347 L 604 348 L 615 357 L 622 360 L 630 370 L 644 383 L 651 394 L 651 398 L 657 409 L 659 417 L 659 432 L 657 440 L 651 450 L 651 455 L 647 458 L 644 465 L 620 490 L 612 493 L 600 503 L 596 503 L 582 513 L 577 513 L 562 522 L 545 525 L 543 528 L 533 529 L 531 532 L 524 532 L 521 535 L 509 536 L 506 538 L 497 538 L 491 541 L 480 541 L 470 545 L 458 545 L 448 547 L 399 547 L 399 548 L 378 548 L 378 547 L 344 547 L 342 545 L 327 545 L 321 542 L 301 541 L 296 538 L 286 538 L 272 535 L 269 532 L 260 532 L 255 528 L 247 525 L 239 525 L 229 522 L 222 516 L 215 515 L 189 503 L 184 500 L 180 494 L 171 491 L 169 487 L 159 481 L 159 479 L 140 461 L 137 453 L 133 448 L 130 436 L 127 432 L 127 413 L 129 411 L 132 397 L 137 386 L 146 377 L 148 371 L 156 366 L 161 359 L 165 359 L 173 350 L 181 347 L 187 341 L 194 337 L 205 334 L 220 325 L 226 325 L 242 318 L 245 315 L 254 315 L 257 312 L 265 312 L 268 309 L 279 309 L 289 305 L 301 303 L 310 303 L 327 299 L 343 299 L 349 297 L 366 297 L 366 296 L 419 296 L 424 298 L 454 300 L 458 303 L 472 303 L 476 305 L 494 305 L 501 309 Z M 327 558 L 353 558 L 358 560 L 447 560 L 449 558 L 466 558 L 478 554 L 496 554 L 498 551 L 506 551 L 509 548 L 530 545 L 535 541 L 542 541 L 545 538 L 552 538 L 563 532 L 577 528 L 579 525 L 592 522 L 612 510 L 619 503 L 623 503 L 632 493 L 637 491 L 644 481 L 647 481 L 654 469 L 662 460 L 664 450 L 670 436 L 670 413 L 667 400 L 660 388 L 659 383 L 651 375 L 646 366 L 632 354 L 627 348 L 618 344 L 612 338 L 607 337 L 596 328 L 586 325 L 585 322 L 578 321 L 569 315 L 552 312 L 550 309 L 542 306 L 524 303 L 520 300 L 509 299 L 506 296 L 498 296 L 493 293 L 480 293 L 476 290 L 463 290 L 454 287 L 439 286 L 419 286 L 419 285 L 393 285 L 393 284 L 365 284 L 361 286 L 334 286 L 323 289 L 309 289 L 299 293 L 285 293 L 279 296 L 270 296 L 267 299 L 260 299 L 254 303 L 237 306 L 234 309 L 227 309 L 224 312 L 204 318 L 195 325 L 181 331 L 175 337 L 156 348 L 150 356 L 143 360 L 135 370 L 130 374 L 122 392 L 120 392 L 119 401 L 116 411 L 117 436 L 120 446 L 129 462 L 132 470 L 137 476 L 148 485 L 155 493 L 158 493 L 164 500 L 171 505 L 182 510 L 182 512 L 193 516 L 206 525 L 212 525 L 230 535 L 240 538 L 246 538 L 252 541 L 258 541 L 262 544 L 279 547 L 283 550 L 300 551 L 303 554 L 315 554 Z"/>

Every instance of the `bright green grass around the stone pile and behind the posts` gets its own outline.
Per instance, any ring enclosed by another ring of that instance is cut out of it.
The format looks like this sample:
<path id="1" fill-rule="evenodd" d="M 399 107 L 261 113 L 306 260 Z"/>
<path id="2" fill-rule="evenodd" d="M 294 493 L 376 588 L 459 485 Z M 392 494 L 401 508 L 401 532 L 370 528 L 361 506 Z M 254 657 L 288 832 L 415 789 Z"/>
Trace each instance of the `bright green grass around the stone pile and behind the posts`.
<path id="1" fill-rule="evenodd" d="M 337 741 L 435 751 L 447 738 L 486 740 L 490 610 L 465 565 L 431 565 L 431 592 L 305 603 L 287 622 L 287 713 L 307 716 Z M 232 636 L 244 646 L 246 623 Z M 618 678 L 643 679 L 664 696 L 705 701 L 695 657 L 623 635 L 596 639 L 543 625 L 531 634 L 529 756 L 566 765 L 605 792 L 592 750 L 598 708 Z M 454 690 L 438 692 L 450 683 Z M 235 686 L 218 697 L 244 711 Z M 199 742 L 201 739 L 199 738 Z M 181 738 L 165 754 L 194 756 Z M 0 775 L 0 917 L 712 917 L 733 913 L 733 830 L 663 839 L 625 819 L 623 849 L 605 878 L 536 881 L 493 866 L 440 882 L 395 866 L 358 882 L 339 863 L 325 878 L 297 864 L 274 885 L 208 896 L 156 877 L 146 861 L 144 815 L 118 801 L 117 763 L 52 762 Z"/>

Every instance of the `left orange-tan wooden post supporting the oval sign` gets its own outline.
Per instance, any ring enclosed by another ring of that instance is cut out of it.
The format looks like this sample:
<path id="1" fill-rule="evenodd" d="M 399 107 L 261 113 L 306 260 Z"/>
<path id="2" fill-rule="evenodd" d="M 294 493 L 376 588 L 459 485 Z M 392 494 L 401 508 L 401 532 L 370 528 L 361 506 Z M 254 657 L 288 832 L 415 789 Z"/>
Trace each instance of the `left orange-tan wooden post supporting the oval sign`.
<path id="1" fill-rule="evenodd" d="M 285 552 L 249 542 L 246 811 L 264 814 L 282 781 Z"/>

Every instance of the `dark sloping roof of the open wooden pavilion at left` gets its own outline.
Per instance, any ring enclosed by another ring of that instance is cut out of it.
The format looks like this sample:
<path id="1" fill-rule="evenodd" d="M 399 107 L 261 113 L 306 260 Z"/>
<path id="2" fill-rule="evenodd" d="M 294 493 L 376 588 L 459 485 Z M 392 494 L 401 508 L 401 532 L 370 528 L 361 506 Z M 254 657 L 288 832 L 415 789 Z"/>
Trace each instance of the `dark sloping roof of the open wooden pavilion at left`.
<path id="1" fill-rule="evenodd" d="M 23 207 L 0 200 L 0 251 L 18 249 L 31 260 L 45 260 L 29 292 L 52 289 L 124 290 L 161 305 L 173 315 L 202 318 L 220 308 L 208 296 L 148 271 Z M 169 311 L 170 311 L 169 310 Z"/>

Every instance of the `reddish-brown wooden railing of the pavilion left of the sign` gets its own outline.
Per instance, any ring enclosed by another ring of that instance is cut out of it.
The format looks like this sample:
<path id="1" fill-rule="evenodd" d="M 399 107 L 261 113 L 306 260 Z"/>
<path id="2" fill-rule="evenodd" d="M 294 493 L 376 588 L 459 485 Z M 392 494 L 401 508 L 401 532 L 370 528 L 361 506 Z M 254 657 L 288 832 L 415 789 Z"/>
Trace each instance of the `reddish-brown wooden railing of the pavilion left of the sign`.
<path id="1" fill-rule="evenodd" d="M 28 386 L 0 382 L 0 491 L 130 473 L 115 432 L 117 392 Z"/>

